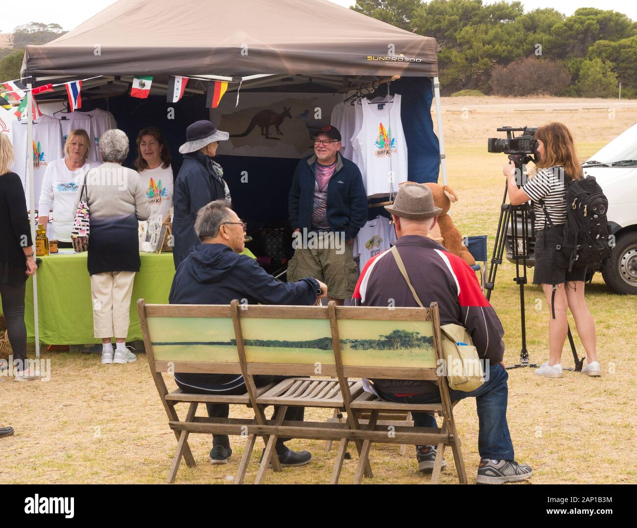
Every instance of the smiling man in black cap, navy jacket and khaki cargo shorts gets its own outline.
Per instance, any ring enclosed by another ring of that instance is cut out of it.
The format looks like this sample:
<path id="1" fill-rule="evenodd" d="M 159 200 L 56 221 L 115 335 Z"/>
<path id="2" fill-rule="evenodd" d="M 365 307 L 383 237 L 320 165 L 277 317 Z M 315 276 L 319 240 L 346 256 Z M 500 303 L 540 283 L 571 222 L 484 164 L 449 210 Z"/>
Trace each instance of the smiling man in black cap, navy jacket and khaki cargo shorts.
<path id="1" fill-rule="evenodd" d="M 299 161 L 289 193 L 294 257 L 287 280 L 310 276 L 327 284 L 330 301 L 352 296 L 358 267 L 352 243 L 367 221 L 367 196 L 361 171 L 341 156 L 341 134 L 322 127 L 314 155 Z"/>

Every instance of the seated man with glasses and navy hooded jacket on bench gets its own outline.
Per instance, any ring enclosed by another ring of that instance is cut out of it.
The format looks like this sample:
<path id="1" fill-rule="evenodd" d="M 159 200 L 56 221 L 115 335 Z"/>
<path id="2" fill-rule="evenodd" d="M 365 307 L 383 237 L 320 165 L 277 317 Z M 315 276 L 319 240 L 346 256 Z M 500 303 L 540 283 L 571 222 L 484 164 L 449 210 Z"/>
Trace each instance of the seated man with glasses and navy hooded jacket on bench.
<path id="1" fill-rule="evenodd" d="M 197 213 L 195 232 L 201 244 L 190 248 L 190 255 L 175 273 L 170 290 L 171 304 L 229 304 L 239 299 L 248 304 L 299 304 L 311 306 L 327 296 L 324 283 L 313 278 L 298 282 L 278 282 L 259 267 L 256 260 L 240 255 L 245 224 L 224 200 L 203 206 Z M 257 387 L 284 379 L 281 376 L 254 376 Z M 196 394 L 245 394 L 243 376 L 234 374 L 175 373 L 175 382 L 184 392 Z M 227 418 L 227 404 L 206 404 L 210 417 Z M 286 420 L 303 420 L 301 407 L 290 407 Z M 307 451 L 294 452 L 279 439 L 276 453 L 282 466 L 302 466 L 310 462 Z M 232 449 L 227 435 L 214 435 L 210 461 L 226 464 Z"/>

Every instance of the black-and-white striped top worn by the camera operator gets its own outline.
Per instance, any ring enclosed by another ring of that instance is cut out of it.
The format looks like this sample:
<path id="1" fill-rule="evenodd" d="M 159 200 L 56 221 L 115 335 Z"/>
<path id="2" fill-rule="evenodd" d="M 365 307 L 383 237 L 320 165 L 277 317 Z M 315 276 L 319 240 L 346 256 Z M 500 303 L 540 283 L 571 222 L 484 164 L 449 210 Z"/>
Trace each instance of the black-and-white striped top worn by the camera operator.
<path id="1" fill-rule="evenodd" d="M 522 186 L 522 190 L 531 197 L 535 211 L 535 229 L 550 227 L 540 200 L 544 201 L 548 215 L 554 225 L 566 224 L 566 179 L 560 166 L 540 169 Z"/>

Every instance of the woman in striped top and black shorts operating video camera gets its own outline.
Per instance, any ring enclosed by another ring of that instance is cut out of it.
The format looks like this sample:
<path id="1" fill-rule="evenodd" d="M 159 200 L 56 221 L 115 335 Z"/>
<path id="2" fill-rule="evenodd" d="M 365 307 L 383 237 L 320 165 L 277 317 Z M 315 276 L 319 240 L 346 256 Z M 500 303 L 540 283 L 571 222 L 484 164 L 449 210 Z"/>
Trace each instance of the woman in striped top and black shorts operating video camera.
<path id="1" fill-rule="evenodd" d="M 572 271 L 568 271 L 557 265 L 556 246 L 564 235 L 566 223 L 566 178 L 581 180 L 582 165 L 575 152 L 573 136 L 566 125 L 543 125 L 537 129 L 533 137 L 537 141 L 538 162 L 530 171 L 532 179 L 518 189 L 513 162 L 505 165 L 503 172 L 507 178 L 507 191 L 512 205 L 533 201 L 536 218 L 533 283 L 541 285 L 549 308 L 554 306 L 555 310 L 554 318 L 552 310 L 549 310 L 548 361 L 535 373 L 548 378 L 563 376 L 561 355 L 568 331 L 568 306 L 586 350 L 587 365 L 583 367 L 582 373 L 599 376 L 601 369 L 595 349 L 595 322 L 584 300 L 586 268 L 573 268 Z M 550 221 L 546 217 L 545 209 Z"/>

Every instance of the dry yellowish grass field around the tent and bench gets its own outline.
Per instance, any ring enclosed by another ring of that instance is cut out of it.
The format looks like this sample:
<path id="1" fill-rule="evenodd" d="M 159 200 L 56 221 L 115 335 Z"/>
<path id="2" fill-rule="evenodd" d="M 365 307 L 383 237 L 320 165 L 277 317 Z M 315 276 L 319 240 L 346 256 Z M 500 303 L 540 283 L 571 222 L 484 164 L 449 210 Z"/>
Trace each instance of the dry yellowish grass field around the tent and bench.
<path id="1" fill-rule="evenodd" d="M 630 105 L 616 108 L 613 118 L 608 118 L 606 110 L 560 112 L 564 107 L 561 99 L 458 99 L 462 98 L 444 99 L 443 108 L 447 104 L 451 108 L 490 106 L 482 108 L 485 111 L 469 112 L 466 120 L 459 113 L 443 113 L 448 180 L 459 196 L 452 208 L 455 224 L 462 234 L 488 234 L 489 248 L 496 231 L 506 161 L 504 155 L 486 152 L 486 138 L 498 136 L 491 129 L 560 120 L 575 131 L 580 155 L 585 159 L 637 121 L 637 108 Z M 527 111 L 520 117 L 508 111 L 516 102 L 541 104 L 536 105 L 535 113 Z M 608 108 L 614 103 L 599 101 L 599 107 Z M 513 266 L 506 262 L 498 271 L 491 297 L 506 331 L 506 364 L 515 363 L 520 352 L 519 295 L 513 276 Z M 637 482 L 637 366 L 633 356 L 637 297 L 611 294 L 597 275 L 592 285 L 587 285 L 587 302 L 597 325 L 601 378 L 566 372 L 564 378 L 549 380 L 538 378 L 532 369 L 510 371 L 508 422 L 515 457 L 533 467 L 533 483 Z M 548 310 L 539 287 L 527 286 L 526 313 L 531 360 L 544 362 L 548 359 Z M 569 320 L 573 327 L 572 318 Z M 583 355 L 577 337 L 575 340 Z M 51 359 L 49 382 L 0 382 L 0 423 L 16 429 L 15 436 L 0 441 L 4 453 L 0 482 L 164 482 L 176 441 L 166 424 L 145 356 L 125 366 L 103 366 L 99 356 L 91 354 L 45 353 L 43 357 Z M 562 364 L 573 364 L 568 345 Z M 169 387 L 175 387 L 172 380 L 168 382 Z M 185 408 L 178 408 L 178 412 L 184 415 Z M 251 416 L 245 408 L 235 407 L 232 413 Z M 329 411 L 306 411 L 309 418 L 329 415 Z M 475 400 L 459 403 L 455 415 L 469 482 L 473 482 L 479 461 Z M 197 466 L 189 468 L 182 462 L 176 482 L 231 482 L 243 452 L 240 438 L 231 440 L 234 454 L 227 466 L 211 466 L 206 461 L 211 447 L 209 436 L 190 436 L 189 443 Z M 247 482 L 254 480 L 260 446 L 261 441 L 257 441 Z M 290 446 L 310 450 L 313 461 L 280 474 L 270 473 L 267 482 L 329 480 L 336 448 L 328 453 L 324 442 L 305 440 L 292 441 Z M 350 452 L 352 460 L 345 461 L 341 482 L 351 482 L 354 475 L 357 457 L 355 450 Z M 373 446 L 370 459 L 375 473 L 371 482 L 429 482 L 429 477 L 415 471 L 412 447 L 401 456 L 397 446 Z M 441 482 L 457 482 L 450 452 L 447 462 Z"/>

